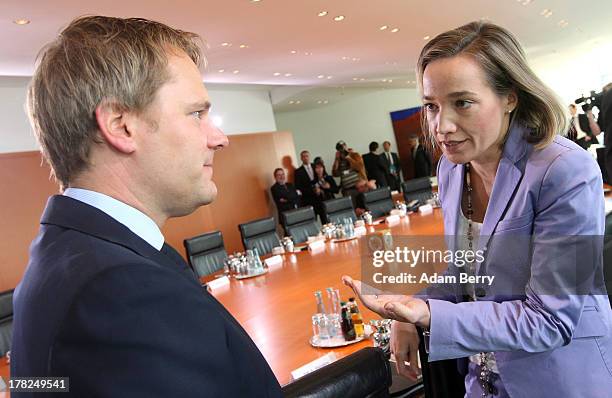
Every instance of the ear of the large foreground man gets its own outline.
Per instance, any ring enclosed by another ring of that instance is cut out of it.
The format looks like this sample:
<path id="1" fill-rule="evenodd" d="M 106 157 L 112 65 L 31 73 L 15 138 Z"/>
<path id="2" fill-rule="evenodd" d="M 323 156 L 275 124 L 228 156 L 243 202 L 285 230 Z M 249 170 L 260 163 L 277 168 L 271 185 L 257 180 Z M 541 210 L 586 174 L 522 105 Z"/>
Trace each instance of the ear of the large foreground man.
<path id="1" fill-rule="evenodd" d="M 96 107 L 95 114 L 100 136 L 111 148 L 125 154 L 136 150 L 127 111 L 121 110 L 117 104 L 103 102 Z"/>

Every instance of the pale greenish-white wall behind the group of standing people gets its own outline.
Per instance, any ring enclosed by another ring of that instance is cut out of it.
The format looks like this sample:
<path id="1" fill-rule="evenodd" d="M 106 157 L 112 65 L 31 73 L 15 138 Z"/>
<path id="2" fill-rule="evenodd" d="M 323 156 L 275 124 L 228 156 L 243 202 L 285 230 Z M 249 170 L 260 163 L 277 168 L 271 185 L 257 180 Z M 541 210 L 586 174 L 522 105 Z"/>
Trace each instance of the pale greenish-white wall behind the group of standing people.
<path id="1" fill-rule="evenodd" d="M 279 130 L 293 132 L 297 159 L 299 152 L 307 149 L 311 160 L 322 156 L 331 172 L 339 140 L 359 153 L 367 153 L 371 141 L 381 146 L 383 141 L 389 141 L 392 150 L 397 149 L 389 113 L 420 104 L 415 89 L 372 89 L 346 94 L 345 99 L 314 109 L 277 112 L 275 117 Z"/>

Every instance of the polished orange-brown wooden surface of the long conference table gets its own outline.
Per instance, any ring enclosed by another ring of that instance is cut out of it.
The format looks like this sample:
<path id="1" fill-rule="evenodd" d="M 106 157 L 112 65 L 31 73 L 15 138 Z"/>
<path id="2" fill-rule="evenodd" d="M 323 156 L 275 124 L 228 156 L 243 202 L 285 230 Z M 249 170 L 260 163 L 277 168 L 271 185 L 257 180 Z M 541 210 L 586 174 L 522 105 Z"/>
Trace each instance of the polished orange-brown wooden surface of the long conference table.
<path id="1" fill-rule="evenodd" d="M 389 227 L 380 224 L 368 227 L 368 233 L 390 229 L 394 235 L 441 235 L 442 212 L 410 214 L 400 223 Z M 353 296 L 342 285 L 342 275 L 359 278 L 361 275 L 360 240 L 338 243 L 327 242 L 325 250 L 316 254 L 302 251 L 282 255 L 283 264 L 272 267 L 262 276 L 232 280 L 229 285 L 213 290 L 213 295 L 236 317 L 272 367 L 278 381 L 291 381 L 291 371 L 328 352 L 337 358 L 372 345 L 366 339 L 342 348 L 315 348 L 309 343 L 312 336 L 311 316 L 316 312 L 314 292 L 321 290 L 326 306 L 325 289 L 340 290 L 343 301 Z M 364 321 L 380 317 L 363 305 Z"/>

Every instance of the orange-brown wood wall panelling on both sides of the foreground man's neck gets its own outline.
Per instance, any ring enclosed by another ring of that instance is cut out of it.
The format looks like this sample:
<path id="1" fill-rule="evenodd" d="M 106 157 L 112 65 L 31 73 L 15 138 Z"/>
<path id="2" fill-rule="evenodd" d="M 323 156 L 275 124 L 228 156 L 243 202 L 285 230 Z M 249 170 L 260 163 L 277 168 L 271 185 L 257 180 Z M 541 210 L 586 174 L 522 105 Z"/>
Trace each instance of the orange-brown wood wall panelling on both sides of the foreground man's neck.
<path id="1" fill-rule="evenodd" d="M 285 156 L 295 162 L 290 132 L 229 136 L 228 148 L 215 155 L 217 200 L 193 214 L 170 219 L 166 241 L 184 255 L 183 239 L 219 229 L 228 251 L 242 250 L 238 224 L 272 215 L 272 171 Z M 21 280 L 28 249 L 50 195 L 58 193 L 39 152 L 0 154 L 0 291 Z"/>

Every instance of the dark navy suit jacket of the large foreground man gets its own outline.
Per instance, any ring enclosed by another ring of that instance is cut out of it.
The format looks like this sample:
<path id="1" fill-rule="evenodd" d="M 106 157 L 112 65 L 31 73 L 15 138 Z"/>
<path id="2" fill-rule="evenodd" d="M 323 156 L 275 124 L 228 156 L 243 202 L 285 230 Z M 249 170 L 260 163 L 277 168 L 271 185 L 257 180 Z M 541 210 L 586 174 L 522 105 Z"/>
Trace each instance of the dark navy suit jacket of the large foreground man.
<path id="1" fill-rule="evenodd" d="M 15 290 L 12 377 L 69 377 L 58 397 L 282 396 L 247 333 L 169 246 L 65 196 L 49 199 L 41 224 Z"/>

